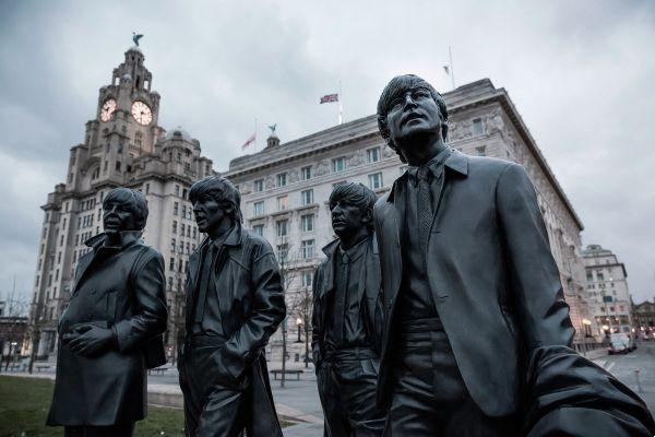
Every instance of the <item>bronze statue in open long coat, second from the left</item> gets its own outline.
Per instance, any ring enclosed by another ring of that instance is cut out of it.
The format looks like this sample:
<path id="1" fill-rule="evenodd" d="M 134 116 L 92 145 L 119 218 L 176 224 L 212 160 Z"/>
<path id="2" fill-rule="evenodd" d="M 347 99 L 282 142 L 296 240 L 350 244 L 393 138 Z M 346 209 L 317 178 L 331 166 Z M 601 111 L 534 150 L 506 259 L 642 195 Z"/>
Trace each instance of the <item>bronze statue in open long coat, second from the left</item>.
<path id="1" fill-rule="evenodd" d="M 241 198 L 227 179 L 196 181 L 189 199 L 207 238 L 189 260 L 186 286 L 186 435 L 282 436 L 263 355 L 286 312 L 273 249 L 241 227 Z"/>

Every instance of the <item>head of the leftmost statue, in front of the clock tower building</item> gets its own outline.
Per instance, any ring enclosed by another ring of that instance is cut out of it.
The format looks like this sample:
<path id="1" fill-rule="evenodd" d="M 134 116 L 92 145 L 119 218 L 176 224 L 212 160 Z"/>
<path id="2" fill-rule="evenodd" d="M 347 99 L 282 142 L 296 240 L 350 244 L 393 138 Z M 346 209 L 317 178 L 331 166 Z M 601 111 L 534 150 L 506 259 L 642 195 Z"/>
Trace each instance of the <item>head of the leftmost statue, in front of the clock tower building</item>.
<path id="1" fill-rule="evenodd" d="M 147 201 L 139 190 L 115 188 L 103 200 L 105 233 L 142 231 L 147 221 Z"/>

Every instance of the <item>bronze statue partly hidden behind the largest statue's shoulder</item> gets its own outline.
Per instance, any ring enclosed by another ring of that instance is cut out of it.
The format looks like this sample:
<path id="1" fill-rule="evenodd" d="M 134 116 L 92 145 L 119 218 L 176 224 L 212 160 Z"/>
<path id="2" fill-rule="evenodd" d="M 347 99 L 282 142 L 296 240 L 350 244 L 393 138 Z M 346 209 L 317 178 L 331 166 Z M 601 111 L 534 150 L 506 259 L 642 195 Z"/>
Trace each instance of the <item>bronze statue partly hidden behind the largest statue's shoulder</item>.
<path id="1" fill-rule="evenodd" d="M 373 234 L 377 196 L 361 184 L 330 194 L 337 239 L 323 248 L 313 281 L 312 351 L 325 437 L 381 436 L 376 406 L 382 328 L 380 260 Z"/>

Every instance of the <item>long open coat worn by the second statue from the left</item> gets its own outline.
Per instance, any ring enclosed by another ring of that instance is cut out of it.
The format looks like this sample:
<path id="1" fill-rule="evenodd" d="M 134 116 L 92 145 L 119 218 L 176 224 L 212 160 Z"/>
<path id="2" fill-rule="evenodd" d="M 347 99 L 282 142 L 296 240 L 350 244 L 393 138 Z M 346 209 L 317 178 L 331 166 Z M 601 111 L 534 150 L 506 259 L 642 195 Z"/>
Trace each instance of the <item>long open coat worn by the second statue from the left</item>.
<path id="1" fill-rule="evenodd" d="M 191 332 L 191 315 L 200 281 L 200 253 L 206 244 L 210 244 L 209 238 L 189 258 L 186 335 Z M 217 357 L 217 366 L 235 379 L 250 373 L 248 435 L 282 437 L 263 354 L 269 338 L 286 315 L 279 267 L 273 249 L 264 238 L 237 225 L 214 261 L 213 276 L 214 290 L 221 293 L 218 306 L 223 332 L 228 338 Z M 178 367 L 181 365 L 179 363 Z"/>

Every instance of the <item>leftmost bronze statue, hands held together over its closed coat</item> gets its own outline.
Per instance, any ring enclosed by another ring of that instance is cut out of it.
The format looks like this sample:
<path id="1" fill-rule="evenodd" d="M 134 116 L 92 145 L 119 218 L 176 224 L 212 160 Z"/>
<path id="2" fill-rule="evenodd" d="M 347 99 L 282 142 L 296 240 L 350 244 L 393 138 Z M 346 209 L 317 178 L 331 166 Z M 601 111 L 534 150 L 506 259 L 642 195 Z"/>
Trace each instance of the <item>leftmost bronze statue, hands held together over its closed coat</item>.
<path id="1" fill-rule="evenodd" d="M 67 437 L 130 437 L 146 413 L 146 370 L 166 363 L 164 259 L 140 239 L 147 202 L 116 188 L 103 202 L 105 232 L 87 241 L 59 320 L 48 425 Z"/>

